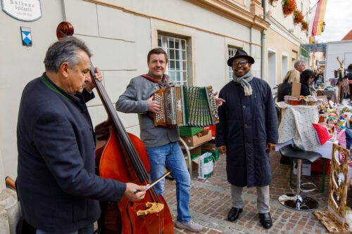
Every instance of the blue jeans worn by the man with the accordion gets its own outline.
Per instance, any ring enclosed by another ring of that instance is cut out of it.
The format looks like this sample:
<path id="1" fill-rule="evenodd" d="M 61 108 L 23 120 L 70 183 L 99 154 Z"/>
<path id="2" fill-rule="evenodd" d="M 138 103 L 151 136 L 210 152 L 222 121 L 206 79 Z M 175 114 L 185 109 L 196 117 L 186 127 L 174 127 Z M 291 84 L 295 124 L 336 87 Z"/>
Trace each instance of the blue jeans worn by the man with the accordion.
<path id="1" fill-rule="evenodd" d="M 178 145 L 168 143 L 167 145 L 146 148 L 149 162 L 151 164 L 151 181 L 163 176 L 165 167 L 171 172 L 176 181 L 176 199 L 177 199 L 177 221 L 187 223 L 191 221 L 189 214 L 189 192 L 191 190 L 191 176 L 187 170 L 184 155 Z M 164 196 L 165 179 L 153 186 L 153 190 L 158 195 Z"/>

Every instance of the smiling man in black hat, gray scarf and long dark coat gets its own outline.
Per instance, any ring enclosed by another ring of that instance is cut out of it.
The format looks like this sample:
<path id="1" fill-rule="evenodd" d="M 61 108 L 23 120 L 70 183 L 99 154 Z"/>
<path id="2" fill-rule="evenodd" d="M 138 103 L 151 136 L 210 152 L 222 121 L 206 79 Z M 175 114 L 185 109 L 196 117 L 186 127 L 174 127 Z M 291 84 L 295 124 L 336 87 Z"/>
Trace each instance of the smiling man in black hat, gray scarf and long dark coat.
<path id="1" fill-rule="evenodd" d="M 253 77 L 253 63 L 254 59 L 241 49 L 227 60 L 234 72 L 233 81 L 219 94 L 226 103 L 218 109 L 220 123 L 216 125 L 215 141 L 220 152 L 227 155 L 227 181 L 232 195 L 228 220 L 237 220 L 243 212 L 243 187 L 255 186 L 260 221 L 264 228 L 270 228 L 269 152 L 277 143 L 277 116 L 270 86 Z"/>

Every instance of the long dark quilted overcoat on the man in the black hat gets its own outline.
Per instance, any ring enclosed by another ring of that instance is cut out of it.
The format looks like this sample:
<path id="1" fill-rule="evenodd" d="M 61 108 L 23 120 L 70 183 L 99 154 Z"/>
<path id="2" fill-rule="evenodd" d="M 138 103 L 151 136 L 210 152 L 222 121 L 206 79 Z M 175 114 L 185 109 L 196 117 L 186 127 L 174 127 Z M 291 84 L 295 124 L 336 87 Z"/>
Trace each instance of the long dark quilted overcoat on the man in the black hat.
<path id="1" fill-rule="evenodd" d="M 226 145 L 227 180 L 234 186 L 268 186 L 271 182 L 267 143 L 277 143 L 277 116 L 270 86 L 262 79 L 250 82 L 253 93 L 244 96 L 236 82 L 219 93 L 225 103 L 219 108 L 216 145 Z"/>

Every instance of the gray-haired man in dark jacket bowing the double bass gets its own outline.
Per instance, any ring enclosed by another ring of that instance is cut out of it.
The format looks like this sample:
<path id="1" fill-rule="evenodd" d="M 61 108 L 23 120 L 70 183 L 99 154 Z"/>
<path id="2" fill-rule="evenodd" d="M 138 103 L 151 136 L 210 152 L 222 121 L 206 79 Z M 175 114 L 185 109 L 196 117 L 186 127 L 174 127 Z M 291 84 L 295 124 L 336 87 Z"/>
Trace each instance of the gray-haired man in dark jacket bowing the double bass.
<path id="1" fill-rule="evenodd" d="M 23 90 L 17 189 L 23 219 L 37 234 L 92 234 L 99 201 L 142 200 L 146 193 L 146 186 L 94 173 L 94 131 L 85 104 L 94 98 L 90 57 L 80 39 L 57 41 L 46 52 L 44 74 Z"/>

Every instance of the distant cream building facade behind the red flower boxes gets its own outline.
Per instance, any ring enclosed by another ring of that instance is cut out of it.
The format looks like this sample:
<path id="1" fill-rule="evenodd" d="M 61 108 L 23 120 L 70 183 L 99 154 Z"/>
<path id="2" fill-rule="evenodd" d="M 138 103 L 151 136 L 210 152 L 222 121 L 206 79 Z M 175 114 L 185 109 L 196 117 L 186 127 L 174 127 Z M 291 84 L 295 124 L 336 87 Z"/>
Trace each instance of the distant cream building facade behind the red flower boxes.
<path id="1" fill-rule="evenodd" d="M 304 20 L 308 22 L 309 0 L 296 0 L 297 9 L 302 11 Z M 282 83 L 288 70 L 294 68 L 296 60 L 306 61 L 307 53 L 301 44 L 308 44 L 307 32 L 301 29 L 301 24 L 294 24 L 294 16 L 285 16 L 282 11 L 282 0 L 265 6 L 265 20 L 270 22 L 266 32 L 268 43 L 268 83 L 275 86 Z"/>

